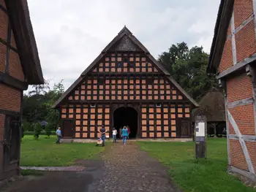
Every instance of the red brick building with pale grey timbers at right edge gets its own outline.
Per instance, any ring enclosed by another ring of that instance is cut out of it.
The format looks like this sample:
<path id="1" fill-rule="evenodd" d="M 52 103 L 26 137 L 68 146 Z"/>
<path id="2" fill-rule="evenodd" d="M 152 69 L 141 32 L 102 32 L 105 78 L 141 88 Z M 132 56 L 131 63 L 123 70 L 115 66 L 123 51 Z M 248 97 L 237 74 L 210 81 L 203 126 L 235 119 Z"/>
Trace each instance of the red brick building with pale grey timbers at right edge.
<path id="1" fill-rule="evenodd" d="M 255 0 L 222 0 L 208 72 L 225 91 L 228 169 L 256 180 Z"/>

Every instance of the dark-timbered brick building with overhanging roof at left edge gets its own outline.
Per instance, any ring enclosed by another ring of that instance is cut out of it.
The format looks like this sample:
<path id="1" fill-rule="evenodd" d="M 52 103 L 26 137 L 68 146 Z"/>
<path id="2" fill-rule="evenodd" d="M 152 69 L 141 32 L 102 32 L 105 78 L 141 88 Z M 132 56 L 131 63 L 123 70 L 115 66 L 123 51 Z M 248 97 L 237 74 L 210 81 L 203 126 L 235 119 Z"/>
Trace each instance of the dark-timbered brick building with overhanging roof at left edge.
<path id="1" fill-rule="evenodd" d="M 18 174 L 23 91 L 43 83 L 24 0 L 0 0 L 0 180 Z"/>

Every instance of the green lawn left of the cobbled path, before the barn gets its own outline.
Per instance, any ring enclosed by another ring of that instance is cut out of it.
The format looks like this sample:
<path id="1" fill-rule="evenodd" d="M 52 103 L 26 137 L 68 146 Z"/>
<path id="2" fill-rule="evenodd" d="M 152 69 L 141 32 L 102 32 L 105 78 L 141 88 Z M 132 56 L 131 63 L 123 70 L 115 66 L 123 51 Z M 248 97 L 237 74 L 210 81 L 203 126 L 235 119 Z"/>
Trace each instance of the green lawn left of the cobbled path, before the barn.
<path id="1" fill-rule="evenodd" d="M 56 145 L 56 137 L 38 140 L 25 136 L 21 142 L 20 166 L 69 166 L 78 159 L 96 158 L 104 147 L 95 143 L 63 143 Z"/>

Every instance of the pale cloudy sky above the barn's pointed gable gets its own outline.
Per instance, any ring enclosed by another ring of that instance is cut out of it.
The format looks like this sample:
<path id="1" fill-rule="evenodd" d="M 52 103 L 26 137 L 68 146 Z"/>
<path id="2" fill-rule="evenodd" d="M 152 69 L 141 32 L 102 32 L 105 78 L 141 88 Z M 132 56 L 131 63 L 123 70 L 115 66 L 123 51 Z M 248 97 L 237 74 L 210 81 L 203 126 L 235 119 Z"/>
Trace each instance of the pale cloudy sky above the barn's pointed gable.
<path id="1" fill-rule="evenodd" d="M 65 89 L 124 25 L 151 54 L 177 42 L 209 52 L 219 0 L 28 0 L 42 71 Z"/>

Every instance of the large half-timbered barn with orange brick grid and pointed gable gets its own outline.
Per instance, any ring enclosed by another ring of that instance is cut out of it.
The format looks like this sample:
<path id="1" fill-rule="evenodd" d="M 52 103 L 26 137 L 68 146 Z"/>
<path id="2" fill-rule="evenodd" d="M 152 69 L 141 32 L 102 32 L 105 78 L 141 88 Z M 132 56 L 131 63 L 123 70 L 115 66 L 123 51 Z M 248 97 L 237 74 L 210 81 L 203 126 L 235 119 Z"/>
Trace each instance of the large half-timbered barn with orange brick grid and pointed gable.
<path id="1" fill-rule="evenodd" d="M 192 138 L 198 104 L 124 26 L 53 107 L 64 138 L 97 138 L 102 125 L 129 126 L 130 137 Z"/>

